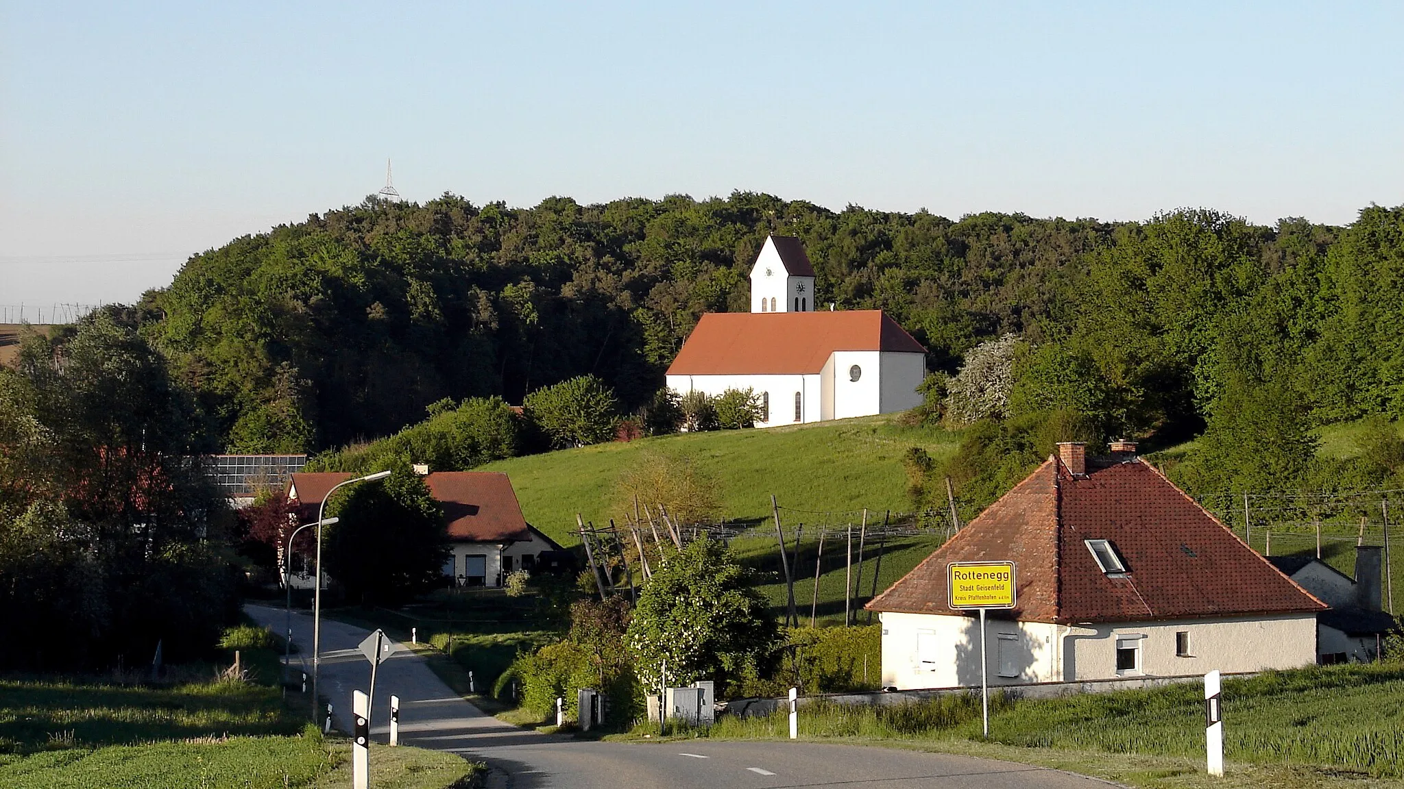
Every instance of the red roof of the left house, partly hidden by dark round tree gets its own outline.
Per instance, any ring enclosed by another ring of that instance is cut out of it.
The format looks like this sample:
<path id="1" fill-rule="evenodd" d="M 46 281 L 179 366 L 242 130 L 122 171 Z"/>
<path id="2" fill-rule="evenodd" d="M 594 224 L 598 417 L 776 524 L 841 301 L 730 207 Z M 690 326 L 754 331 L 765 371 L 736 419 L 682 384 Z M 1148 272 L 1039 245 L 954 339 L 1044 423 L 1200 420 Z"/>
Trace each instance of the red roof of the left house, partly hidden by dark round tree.
<path id="1" fill-rule="evenodd" d="M 316 521 L 317 504 L 333 486 L 351 479 L 340 472 L 296 473 L 288 497 L 300 504 L 303 522 Z M 500 472 L 434 472 L 424 477 L 430 496 L 444 508 L 448 538 L 456 542 L 531 539 L 517 491 Z"/>

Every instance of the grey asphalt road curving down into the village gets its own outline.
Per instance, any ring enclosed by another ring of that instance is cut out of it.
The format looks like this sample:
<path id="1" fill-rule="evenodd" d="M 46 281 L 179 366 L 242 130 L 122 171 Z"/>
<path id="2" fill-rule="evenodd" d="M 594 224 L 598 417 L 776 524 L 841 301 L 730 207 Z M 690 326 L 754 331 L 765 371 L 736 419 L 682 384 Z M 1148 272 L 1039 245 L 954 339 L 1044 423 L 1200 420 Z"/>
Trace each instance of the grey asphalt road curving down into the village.
<path id="1" fill-rule="evenodd" d="M 260 623 L 284 629 L 284 611 L 246 606 Z M 293 640 L 312 651 L 312 618 L 292 616 Z M 368 635 L 322 622 L 322 694 L 337 729 L 350 730 L 351 691 L 365 689 L 371 664 L 357 651 Z M 298 660 L 296 657 L 293 660 Z M 389 738 L 389 698 L 400 696 L 400 740 L 462 754 L 491 768 L 489 788 L 511 789 L 1091 789 L 1106 783 L 1021 764 L 821 743 L 708 741 L 598 743 L 539 734 L 501 723 L 456 696 L 409 649 L 395 644 L 376 675 L 371 736 Z"/>

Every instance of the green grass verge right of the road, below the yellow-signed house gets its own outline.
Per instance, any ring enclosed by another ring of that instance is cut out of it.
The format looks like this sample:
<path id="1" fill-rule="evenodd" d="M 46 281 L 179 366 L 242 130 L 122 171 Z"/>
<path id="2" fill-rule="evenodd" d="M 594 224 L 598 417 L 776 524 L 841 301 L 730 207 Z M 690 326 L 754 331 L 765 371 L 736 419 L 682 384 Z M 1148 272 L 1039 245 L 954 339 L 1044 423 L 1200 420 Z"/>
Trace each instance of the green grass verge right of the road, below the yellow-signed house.
<path id="1" fill-rule="evenodd" d="M 1404 785 L 1404 665 L 1311 667 L 1227 679 L 1223 710 L 1224 755 L 1237 785 Z M 628 738 L 785 738 L 788 727 L 788 715 L 778 713 L 723 717 L 706 731 L 642 726 Z M 892 706 L 817 702 L 800 708 L 799 729 L 806 738 L 994 755 L 1136 786 L 1199 785 L 1205 747 L 1203 691 L 1193 682 L 1060 699 L 995 694 L 988 741 L 980 734 L 974 694 Z"/>

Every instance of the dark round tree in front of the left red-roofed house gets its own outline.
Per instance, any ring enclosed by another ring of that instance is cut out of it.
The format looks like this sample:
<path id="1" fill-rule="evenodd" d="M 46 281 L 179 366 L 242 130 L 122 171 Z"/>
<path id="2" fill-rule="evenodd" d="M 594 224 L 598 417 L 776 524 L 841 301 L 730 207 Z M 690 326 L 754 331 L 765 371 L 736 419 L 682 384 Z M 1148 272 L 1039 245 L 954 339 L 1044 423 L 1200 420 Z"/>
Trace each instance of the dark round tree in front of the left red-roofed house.
<path id="1" fill-rule="evenodd" d="M 396 605 L 438 585 L 448 556 L 444 512 L 400 458 L 389 477 L 341 489 L 327 504 L 327 574 L 361 604 Z"/>

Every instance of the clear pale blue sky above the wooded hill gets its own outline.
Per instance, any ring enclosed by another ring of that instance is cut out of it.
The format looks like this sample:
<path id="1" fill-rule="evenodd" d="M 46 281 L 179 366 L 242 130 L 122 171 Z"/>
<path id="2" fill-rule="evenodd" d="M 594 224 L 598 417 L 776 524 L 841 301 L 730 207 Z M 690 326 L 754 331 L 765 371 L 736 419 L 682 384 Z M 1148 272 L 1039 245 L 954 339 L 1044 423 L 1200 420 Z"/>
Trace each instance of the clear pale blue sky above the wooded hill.
<path id="1" fill-rule="evenodd" d="M 1404 3 L 0 0 L 0 323 L 361 202 L 1404 204 Z"/>

